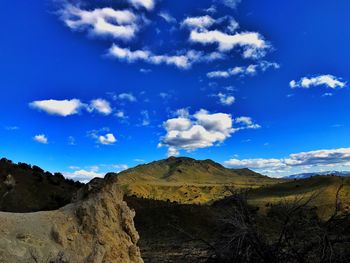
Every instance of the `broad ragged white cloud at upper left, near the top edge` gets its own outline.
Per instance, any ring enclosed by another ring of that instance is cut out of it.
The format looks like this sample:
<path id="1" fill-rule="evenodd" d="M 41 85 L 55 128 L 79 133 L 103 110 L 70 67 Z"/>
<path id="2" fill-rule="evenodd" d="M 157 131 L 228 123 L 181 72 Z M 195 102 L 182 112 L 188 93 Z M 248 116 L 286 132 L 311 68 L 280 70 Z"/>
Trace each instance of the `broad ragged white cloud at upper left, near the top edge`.
<path id="1" fill-rule="evenodd" d="M 116 39 L 130 40 L 138 31 L 138 17 L 129 10 L 96 8 L 83 10 L 66 5 L 61 18 L 73 30 L 88 31 L 92 35 L 111 36 Z"/>

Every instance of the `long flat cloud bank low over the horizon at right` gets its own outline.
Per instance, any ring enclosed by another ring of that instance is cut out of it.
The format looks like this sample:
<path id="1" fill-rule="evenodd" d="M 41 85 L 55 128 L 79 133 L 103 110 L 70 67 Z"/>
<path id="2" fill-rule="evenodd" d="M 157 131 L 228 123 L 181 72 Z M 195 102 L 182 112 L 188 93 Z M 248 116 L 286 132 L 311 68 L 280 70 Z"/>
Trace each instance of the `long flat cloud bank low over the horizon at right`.
<path id="1" fill-rule="evenodd" d="M 316 150 L 290 154 L 281 159 L 230 159 L 225 164 L 232 168 L 251 169 L 288 169 L 292 167 L 317 167 L 332 165 L 350 165 L 350 148 Z"/>

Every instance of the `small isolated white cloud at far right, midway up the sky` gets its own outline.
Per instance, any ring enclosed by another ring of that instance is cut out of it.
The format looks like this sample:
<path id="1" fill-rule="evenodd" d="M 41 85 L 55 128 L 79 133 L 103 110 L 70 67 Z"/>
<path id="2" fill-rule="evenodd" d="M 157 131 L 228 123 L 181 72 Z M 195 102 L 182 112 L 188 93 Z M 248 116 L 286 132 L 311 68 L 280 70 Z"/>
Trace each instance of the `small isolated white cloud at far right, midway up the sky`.
<path id="1" fill-rule="evenodd" d="M 337 78 L 333 75 L 319 75 L 315 77 L 303 77 L 299 81 L 292 80 L 289 83 L 291 88 L 305 88 L 308 89 L 310 87 L 316 86 L 326 86 L 328 88 L 344 88 L 346 86 L 346 82 L 342 81 L 341 78 Z"/>

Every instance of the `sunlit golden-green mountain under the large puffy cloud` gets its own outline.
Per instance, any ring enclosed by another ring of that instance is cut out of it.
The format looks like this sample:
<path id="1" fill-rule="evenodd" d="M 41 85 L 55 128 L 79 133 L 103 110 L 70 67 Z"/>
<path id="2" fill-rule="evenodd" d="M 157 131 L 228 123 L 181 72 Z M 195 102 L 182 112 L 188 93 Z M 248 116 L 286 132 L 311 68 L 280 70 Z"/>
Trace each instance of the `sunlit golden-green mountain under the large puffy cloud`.
<path id="1" fill-rule="evenodd" d="M 127 195 L 176 201 L 208 203 L 243 188 L 280 182 L 249 169 L 228 169 L 212 160 L 170 157 L 125 170 L 118 182 Z"/>

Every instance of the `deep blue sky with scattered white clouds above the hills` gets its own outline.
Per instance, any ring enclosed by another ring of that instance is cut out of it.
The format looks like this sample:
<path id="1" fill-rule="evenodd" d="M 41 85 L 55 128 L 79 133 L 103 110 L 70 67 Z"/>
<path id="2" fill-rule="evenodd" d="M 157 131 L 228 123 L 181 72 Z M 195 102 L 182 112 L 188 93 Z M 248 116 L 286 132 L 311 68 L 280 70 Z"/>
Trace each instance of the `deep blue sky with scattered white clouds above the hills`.
<path id="1" fill-rule="evenodd" d="M 80 180 L 169 155 L 348 169 L 349 1 L 2 8 L 1 156 Z"/>

